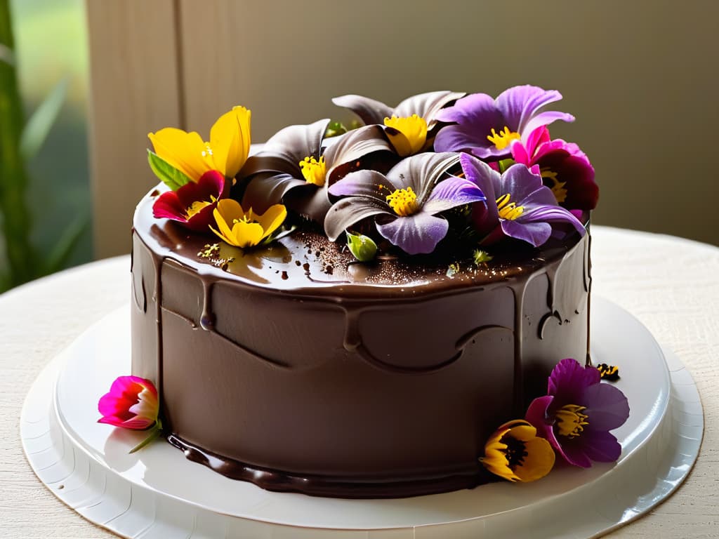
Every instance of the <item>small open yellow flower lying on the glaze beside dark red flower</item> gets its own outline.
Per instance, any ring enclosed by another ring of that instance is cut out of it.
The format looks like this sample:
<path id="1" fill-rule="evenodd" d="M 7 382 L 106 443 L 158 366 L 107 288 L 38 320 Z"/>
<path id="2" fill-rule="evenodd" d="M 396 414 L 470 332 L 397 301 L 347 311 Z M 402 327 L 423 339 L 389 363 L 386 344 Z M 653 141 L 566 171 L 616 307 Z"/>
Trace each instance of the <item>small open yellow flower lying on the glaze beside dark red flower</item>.
<path id="1" fill-rule="evenodd" d="M 212 227 L 210 229 L 223 241 L 244 249 L 259 244 L 277 230 L 285 221 L 287 208 L 282 204 L 275 204 L 267 208 L 262 215 L 256 215 L 252 208 L 244 211 L 239 202 L 224 198 L 217 203 L 213 215 L 219 231 Z"/>

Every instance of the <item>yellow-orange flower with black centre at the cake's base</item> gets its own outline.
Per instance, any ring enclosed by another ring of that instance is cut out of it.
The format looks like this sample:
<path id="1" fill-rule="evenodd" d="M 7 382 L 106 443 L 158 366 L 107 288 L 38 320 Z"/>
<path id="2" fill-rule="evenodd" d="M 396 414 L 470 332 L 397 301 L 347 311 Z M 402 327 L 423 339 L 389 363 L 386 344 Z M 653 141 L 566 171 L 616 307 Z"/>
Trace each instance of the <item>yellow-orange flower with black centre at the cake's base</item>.
<path id="1" fill-rule="evenodd" d="M 549 474 L 554 450 L 537 436 L 537 430 L 523 420 L 508 421 L 495 430 L 480 459 L 486 469 L 512 482 L 530 482 Z"/>

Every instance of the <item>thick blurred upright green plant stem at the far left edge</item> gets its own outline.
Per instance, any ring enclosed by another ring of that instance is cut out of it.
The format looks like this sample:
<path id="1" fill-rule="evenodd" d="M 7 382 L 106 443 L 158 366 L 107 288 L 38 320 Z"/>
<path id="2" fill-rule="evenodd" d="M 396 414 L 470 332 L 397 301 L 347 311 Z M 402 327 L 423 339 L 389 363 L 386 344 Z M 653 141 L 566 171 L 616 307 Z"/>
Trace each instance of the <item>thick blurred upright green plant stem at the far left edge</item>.
<path id="1" fill-rule="evenodd" d="M 27 170 L 20 152 L 24 126 L 22 99 L 14 63 L 14 40 L 9 0 L 0 0 L 0 221 L 5 236 L 8 275 L 0 290 L 37 275 L 35 252 L 30 243 L 31 217 L 25 201 Z"/>

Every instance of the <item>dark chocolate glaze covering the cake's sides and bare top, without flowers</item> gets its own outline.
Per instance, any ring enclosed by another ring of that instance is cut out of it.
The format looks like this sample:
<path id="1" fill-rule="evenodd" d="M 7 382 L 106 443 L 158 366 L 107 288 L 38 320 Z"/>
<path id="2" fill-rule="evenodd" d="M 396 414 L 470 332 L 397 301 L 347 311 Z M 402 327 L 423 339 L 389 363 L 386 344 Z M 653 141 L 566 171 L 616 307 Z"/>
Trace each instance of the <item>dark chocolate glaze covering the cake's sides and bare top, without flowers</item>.
<path id="1" fill-rule="evenodd" d="M 334 497 L 475 487 L 487 437 L 587 354 L 588 236 L 479 268 L 357 264 L 311 233 L 211 248 L 151 206 L 134 217 L 132 373 L 157 383 L 173 445 L 234 479 Z"/>

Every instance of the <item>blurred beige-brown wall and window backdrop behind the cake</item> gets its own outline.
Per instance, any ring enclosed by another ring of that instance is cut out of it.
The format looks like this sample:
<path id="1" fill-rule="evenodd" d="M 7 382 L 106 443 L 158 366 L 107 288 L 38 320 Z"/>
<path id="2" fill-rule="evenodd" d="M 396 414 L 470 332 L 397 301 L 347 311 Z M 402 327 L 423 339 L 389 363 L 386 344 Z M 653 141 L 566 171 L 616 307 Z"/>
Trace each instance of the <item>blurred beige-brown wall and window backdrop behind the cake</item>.
<path id="1" fill-rule="evenodd" d="M 595 166 L 595 224 L 719 245 L 718 2 L 3 3 L 24 121 L 47 99 L 50 116 L 62 99 L 25 167 L 21 232 L 35 254 L 0 288 L 129 252 L 132 209 L 156 183 L 147 132 L 178 126 L 207 137 L 214 119 L 242 104 L 252 109 L 253 142 L 261 142 L 288 124 L 349 119 L 330 101 L 344 93 L 393 106 L 439 89 L 559 89 L 564 100 L 555 108 L 577 121 L 551 132 L 580 144 Z M 8 53 L 0 52 L 4 68 Z M 8 117 L 3 111 L 5 126 Z M 0 213 L 18 206 L 19 176 L 4 165 Z M 6 247 L 15 240 L 7 230 L 0 275 L 9 272 Z"/>

